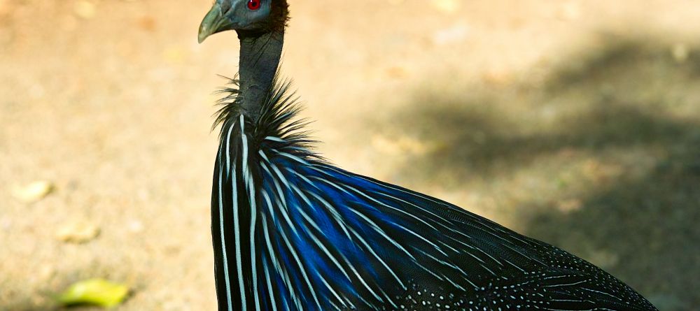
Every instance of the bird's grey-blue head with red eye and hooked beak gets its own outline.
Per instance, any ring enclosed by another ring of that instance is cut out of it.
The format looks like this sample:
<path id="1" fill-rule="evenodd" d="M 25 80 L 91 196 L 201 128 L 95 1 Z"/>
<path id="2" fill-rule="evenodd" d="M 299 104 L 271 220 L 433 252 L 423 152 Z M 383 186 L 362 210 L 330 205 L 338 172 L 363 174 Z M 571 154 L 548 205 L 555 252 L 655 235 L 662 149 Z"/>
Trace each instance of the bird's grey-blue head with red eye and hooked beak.
<path id="1" fill-rule="evenodd" d="M 216 0 L 202 20 L 199 41 L 227 30 L 255 34 L 283 29 L 287 7 L 286 0 Z"/>

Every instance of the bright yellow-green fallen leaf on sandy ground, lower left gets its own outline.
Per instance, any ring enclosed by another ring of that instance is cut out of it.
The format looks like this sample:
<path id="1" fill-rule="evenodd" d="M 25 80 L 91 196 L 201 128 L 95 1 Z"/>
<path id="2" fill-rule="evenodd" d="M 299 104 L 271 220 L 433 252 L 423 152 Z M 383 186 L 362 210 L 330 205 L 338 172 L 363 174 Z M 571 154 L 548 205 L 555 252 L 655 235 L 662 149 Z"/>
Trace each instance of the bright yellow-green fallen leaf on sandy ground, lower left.
<path id="1" fill-rule="evenodd" d="M 63 305 L 97 305 L 112 308 L 124 301 L 129 287 L 102 279 L 77 282 L 57 297 Z"/>

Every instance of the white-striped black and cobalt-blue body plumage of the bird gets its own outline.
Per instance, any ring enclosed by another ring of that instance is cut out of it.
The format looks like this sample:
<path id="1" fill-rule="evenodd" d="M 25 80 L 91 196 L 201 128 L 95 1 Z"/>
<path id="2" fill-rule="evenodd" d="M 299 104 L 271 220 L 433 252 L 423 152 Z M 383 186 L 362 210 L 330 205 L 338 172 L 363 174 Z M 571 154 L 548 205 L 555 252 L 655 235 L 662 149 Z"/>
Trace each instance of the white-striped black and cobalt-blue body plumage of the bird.
<path id="1" fill-rule="evenodd" d="M 423 301 L 426 305 L 416 301 L 415 305 L 407 307 L 407 298 L 402 295 L 411 297 L 409 301 L 415 301 L 416 296 L 423 297 L 430 291 L 428 288 L 419 290 L 421 284 L 424 287 L 426 282 L 437 284 L 437 288 L 451 289 L 455 297 L 465 294 L 486 297 L 490 295 L 489 288 L 512 291 L 514 294 L 503 294 L 503 298 L 520 303 L 504 302 L 505 305 L 493 310 L 511 307 L 518 310 L 528 306 L 541 310 L 584 310 L 550 306 L 552 303 L 595 303 L 581 295 L 578 298 L 566 295 L 566 298 L 550 297 L 556 294 L 556 289 L 569 290 L 573 287 L 582 287 L 581 292 L 610 296 L 612 300 L 624 302 L 615 294 L 585 288 L 591 284 L 592 277 L 542 272 L 548 266 L 542 254 L 530 254 L 524 245 L 547 251 L 552 251 L 554 247 L 538 244 L 442 201 L 347 173 L 304 157 L 304 154 L 290 153 L 283 147 L 265 145 L 287 144 L 288 141 L 276 136 L 255 140 L 254 133 L 246 132 L 246 121 L 241 115 L 237 122 L 225 125 L 225 140 L 222 141 L 218 157 L 217 210 L 221 215 L 218 217 L 218 229 L 221 231 L 224 283 L 229 294 L 226 310 L 236 310 L 237 306 L 241 310 L 423 310 L 423 307 L 428 310 L 428 305 L 430 310 L 475 310 L 475 303 L 489 303 L 483 299 L 468 301 L 462 298 L 459 300 L 462 302 L 442 303 L 441 307 L 437 307 L 439 303 L 430 305 L 429 301 Z M 235 140 L 235 137 L 238 139 Z M 259 144 L 259 141 L 263 143 Z M 386 191 L 363 189 L 359 184 L 339 182 L 338 178 L 367 182 Z M 224 185 L 231 189 L 229 198 L 223 193 L 223 189 L 227 189 Z M 241 189 L 244 189 L 243 198 L 239 198 Z M 339 206 L 337 197 L 328 196 L 329 189 L 336 196 L 346 196 L 356 201 L 351 205 Z M 230 204 L 225 204 L 226 200 Z M 421 201 L 439 208 L 428 208 L 418 203 Z M 245 211 L 241 210 L 241 202 L 246 203 Z M 232 224 L 225 223 L 228 218 L 223 217 L 226 214 L 225 205 L 232 208 Z M 372 208 L 366 210 L 363 206 Z M 319 209 L 328 213 L 326 218 L 318 219 Z M 389 224 L 386 219 L 374 215 L 375 210 L 390 212 L 403 222 Z M 245 231 L 242 229 L 241 213 L 249 216 L 246 218 L 248 230 Z M 224 233 L 229 229 L 226 226 L 232 226 L 234 236 L 233 263 L 228 256 L 230 251 Z M 328 244 L 325 236 L 328 226 L 336 228 L 338 237 L 352 245 L 351 249 L 343 250 L 339 248 L 342 245 Z M 476 235 L 497 241 L 500 252 L 511 255 L 502 256 L 479 247 L 481 242 Z M 398 240 L 396 236 L 401 239 Z M 258 237 L 260 240 L 256 240 Z M 298 243 L 304 239 L 316 247 L 317 252 L 302 255 Z M 407 240 L 412 242 L 407 243 Z M 377 245 L 384 245 L 384 248 L 377 248 Z M 367 262 L 373 263 L 372 269 L 384 271 L 386 277 L 378 279 L 377 275 L 367 274 L 365 266 L 360 269 L 358 263 L 353 262 L 357 252 L 365 254 L 365 259 L 369 260 Z M 395 266 L 395 258 L 386 256 L 387 252 L 394 256 L 402 254 L 403 266 Z M 248 266 L 244 266 L 244 254 L 250 256 L 245 261 Z M 283 255 L 286 259 L 281 260 L 280 254 L 286 254 Z M 330 278 L 323 275 L 323 270 L 309 263 L 314 261 L 309 256 L 316 256 L 314 260 L 328 261 L 328 268 L 335 270 L 337 275 Z M 524 265 L 523 261 L 528 263 Z M 465 262 L 472 262 L 472 265 L 465 267 Z M 258 263 L 262 263 L 261 269 Z M 230 267 L 235 267 L 235 275 L 230 274 Z M 416 280 L 402 270 L 410 267 L 417 269 L 412 270 L 412 274 L 422 275 L 422 280 Z M 482 273 L 475 274 L 475 269 Z M 505 270 L 511 271 L 510 275 L 504 275 Z M 517 275 L 526 280 L 510 280 L 517 278 Z M 338 277 L 354 287 L 355 291 L 365 293 L 364 296 L 349 295 L 346 289 L 339 287 Z M 528 286 L 538 282 L 542 284 L 538 285 L 537 290 L 527 292 L 526 296 L 522 294 L 530 290 Z M 232 288 L 232 284 L 237 286 Z M 494 284 L 509 285 L 497 287 Z M 412 291 L 414 293 L 409 294 Z M 446 295 L 440 294 L 440 297 Z M 281 303 L 279 299 L 283 296 L 288 297 L 289 301 Z M 239 301 L 231 301 L 234 298 Z M 498 305 L 505 301 L 503 298 L 492 300 L 491 304 Z M 458 308 L 460 306 L 463 308 Z M 591 310 L 605 310 L 605 307 Z"/>

